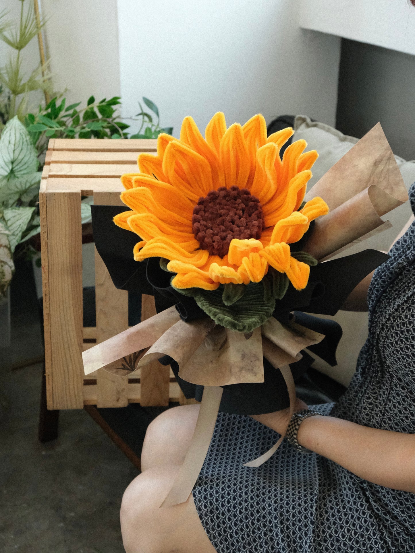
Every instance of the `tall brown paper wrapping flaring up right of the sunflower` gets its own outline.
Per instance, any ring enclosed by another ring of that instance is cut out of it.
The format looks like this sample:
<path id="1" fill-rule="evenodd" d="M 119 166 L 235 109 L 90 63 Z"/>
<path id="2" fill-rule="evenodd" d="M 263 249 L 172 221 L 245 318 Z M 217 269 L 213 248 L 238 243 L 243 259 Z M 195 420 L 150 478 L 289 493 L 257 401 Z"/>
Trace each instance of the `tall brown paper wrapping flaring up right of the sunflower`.
<path id="1" fill-rule="evenodd" d="M 319 260 L 390 228 L 382 215 L 408 200 L 380 123 L 365 134 L 305 196 L 320 196 L 330 212 L 315 221 L 304 250 Z"/>

